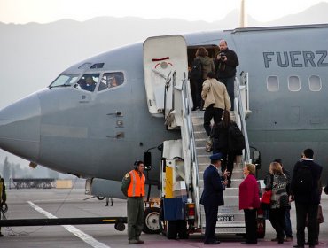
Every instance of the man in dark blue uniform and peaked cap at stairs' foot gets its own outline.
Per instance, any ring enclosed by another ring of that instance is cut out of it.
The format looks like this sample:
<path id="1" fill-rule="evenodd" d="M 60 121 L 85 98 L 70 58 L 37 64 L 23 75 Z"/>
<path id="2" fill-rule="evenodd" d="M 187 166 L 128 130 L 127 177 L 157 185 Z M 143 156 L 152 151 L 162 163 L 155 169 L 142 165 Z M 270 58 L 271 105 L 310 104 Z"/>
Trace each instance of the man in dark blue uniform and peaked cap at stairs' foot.
<path id="1" fill-rule="evenodd" d="M 222 181 L 219 171 L 223 160 L 222 153 L 216 153 L 210 156 L 211 164 L 204 171 L 204 190 L 200 198 L 200 204 L 204 205 L 206 217 L 206 229 L 204 244 L 220 244 L 215 240 L 215 225 L 217 221 L 217 213 L 219 205 L 224 205 L 223 190 L 228 181 Z M 228 172 L 224 172 L 223 176 L 227 176 Z"/>

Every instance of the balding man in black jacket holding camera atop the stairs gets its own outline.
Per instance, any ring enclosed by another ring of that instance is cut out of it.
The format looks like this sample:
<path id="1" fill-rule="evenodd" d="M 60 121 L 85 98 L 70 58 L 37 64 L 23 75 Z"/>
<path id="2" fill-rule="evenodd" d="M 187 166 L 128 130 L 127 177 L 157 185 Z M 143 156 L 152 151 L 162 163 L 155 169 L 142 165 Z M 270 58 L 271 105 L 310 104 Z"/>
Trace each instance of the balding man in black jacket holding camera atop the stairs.
<path id="1" fill-rule="evenodd" d="M 225 40 L 220 41 L 219 48 L 220 53 L 215 58 L 216 79 L 223 82 L 227 87 L 231 101 L 231 111 L 233 111 L 236 67 L 239 66 L 239 60 L 236 52 L 228 48 Z"/>

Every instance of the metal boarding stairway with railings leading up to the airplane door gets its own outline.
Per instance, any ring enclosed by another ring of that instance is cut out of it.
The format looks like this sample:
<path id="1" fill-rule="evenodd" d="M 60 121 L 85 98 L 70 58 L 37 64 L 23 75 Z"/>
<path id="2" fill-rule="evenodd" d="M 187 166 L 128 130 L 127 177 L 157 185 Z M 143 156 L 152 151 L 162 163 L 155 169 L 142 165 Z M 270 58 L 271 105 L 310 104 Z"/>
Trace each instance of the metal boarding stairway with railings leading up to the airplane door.
<path id="1" fill-rule="evenodd" d="M 231 112 L 231 119 L 234 120 L 238 127 L 243 131 L 246 139 L 246 149 L 243 155 L 238 156 L 234 163 L 234 170 L 231 177 L 231 187 L 226 188 L 223 194 L 224 205 L 219 207 L 218 221 L 216 223 L 216 234 L 244 234 L 245 219 L 244 212 L 238 209 L 238 186 L 243 181 L 243 167 L 246 162 L 250 162 L 250 149 L 248 144 L 248 137 L 246 133 L 246 108 L 243 107 L 243 97 L 246 99 L 247 94 L 247 74 L 242 74 L 241 79 L 235 80 L 235 111 Z M 242 84 L 241 84 L 242 83 Z M 198 225 L 201 232 L 205 232 L 205 211 L 203 205 L 199 204 L 199 199 L 203 191 L 204 182 L 203 174 L 209 165 L 210 153 L 205 151 L 205 144 L 207 141 L 207 134 L 203 127 L 204 112 L 191 112 L 191 97 L 189 82 L 184 83 L 181 89 L 181 95 L 184 103 L 183 125 L 181 126 L 182 143 L 184 150 L 184 172 L 191 176 L 191 185 L 193 188 L 192 199 L 197 205 L 198 209 Z M 245 101 L 244 101 L 245 102 Z M 245 105 L 245 104 L 244 104 Z M 191 165 L 191 169 L 186 167 Z M 188 173 L 187 173 L 188 172 Z"/>

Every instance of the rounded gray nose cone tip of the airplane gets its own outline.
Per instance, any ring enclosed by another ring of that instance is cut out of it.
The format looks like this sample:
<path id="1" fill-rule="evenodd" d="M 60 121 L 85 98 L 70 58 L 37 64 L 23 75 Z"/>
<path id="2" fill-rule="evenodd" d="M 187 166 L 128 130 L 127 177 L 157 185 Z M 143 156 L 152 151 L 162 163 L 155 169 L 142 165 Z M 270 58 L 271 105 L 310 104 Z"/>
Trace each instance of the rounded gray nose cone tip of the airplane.
<path id="1" fill-rule="evenodd" d="M 40 148 L 40 114 L 36 93 L 0 110 L 0 148 L 36 161 Z"/>

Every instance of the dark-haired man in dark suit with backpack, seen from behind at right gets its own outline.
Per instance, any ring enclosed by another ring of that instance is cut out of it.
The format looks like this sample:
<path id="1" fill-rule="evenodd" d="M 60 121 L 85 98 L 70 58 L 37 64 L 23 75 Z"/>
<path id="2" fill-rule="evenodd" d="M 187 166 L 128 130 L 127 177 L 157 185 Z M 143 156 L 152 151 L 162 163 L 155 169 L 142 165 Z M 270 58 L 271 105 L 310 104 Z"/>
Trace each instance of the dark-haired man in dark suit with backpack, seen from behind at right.
<path id="1" fill-rule="evenodd" d="M 313 150 L 304 150 L 304 157 L 298 161 L 293 167 L 293 178 L 291 182 L 291 196 L 295 200 L 296 206 L 296 226 L 297 226 L 297 244 L 293 247 L 302 248 L 305 244 L 305 223 L 308 215 L 308 245 L 315 247 L 316 245 L 316 215 L 318 205 L 320 203 L 319 180 L 323 167 L 313 161 Z M 305 167 L 309 167 L 305 168 Z M 310 171 L 310 181 L 305 187 L 301 188 L 301 174 L 305 174 L 304 170 Z M 304 189 L 306 188 L 306 189 Z"/>

